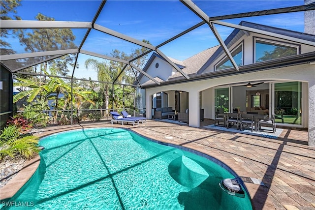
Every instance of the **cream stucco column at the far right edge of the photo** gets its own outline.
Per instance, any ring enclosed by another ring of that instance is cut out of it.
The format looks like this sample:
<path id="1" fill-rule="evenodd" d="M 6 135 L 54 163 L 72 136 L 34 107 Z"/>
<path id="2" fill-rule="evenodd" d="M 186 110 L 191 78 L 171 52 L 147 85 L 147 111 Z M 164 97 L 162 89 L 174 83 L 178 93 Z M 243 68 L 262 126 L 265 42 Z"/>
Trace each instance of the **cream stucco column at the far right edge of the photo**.
<path id="1" fill-rule="evenodd" d="M 315 80 L 309 81 L 309 146 L 315 147 Z"/>

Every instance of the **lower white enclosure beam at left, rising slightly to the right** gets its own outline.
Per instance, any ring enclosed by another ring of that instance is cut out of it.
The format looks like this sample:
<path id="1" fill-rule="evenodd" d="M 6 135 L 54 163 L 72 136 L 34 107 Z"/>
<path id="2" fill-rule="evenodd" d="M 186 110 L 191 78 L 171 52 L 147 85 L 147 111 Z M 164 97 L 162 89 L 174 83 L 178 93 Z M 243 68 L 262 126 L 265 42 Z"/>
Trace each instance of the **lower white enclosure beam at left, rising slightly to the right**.
<path id="1" fill-rule="evenodd" d="M 45 52 L 3 55 L 0 57 L 0 60 L 2 61 L 2 60 L 27 59 L 27 58 L 35 58 L 35 57 L 42 57 L 42 56 L 56 56 L 56 55 L 63 55 L 63 54 L 71 54 L 71 53 L 79 53 L 79 49 L 53 50 L 53 51 L 45 51 Z"/>

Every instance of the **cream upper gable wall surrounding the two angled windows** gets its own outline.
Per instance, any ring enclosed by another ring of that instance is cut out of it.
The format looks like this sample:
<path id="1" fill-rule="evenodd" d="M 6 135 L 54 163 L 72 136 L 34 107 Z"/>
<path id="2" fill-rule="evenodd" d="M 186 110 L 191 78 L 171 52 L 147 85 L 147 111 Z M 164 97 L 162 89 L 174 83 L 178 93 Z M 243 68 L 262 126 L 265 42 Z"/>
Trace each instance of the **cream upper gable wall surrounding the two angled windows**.
<path id="1" fill-rule="evenodd" d="M 292 42 L 292 41 L 287 41 L 287 40 L 283 40 L 280 38 L 274 38 L 274 37 L 270 37 L 267 35 L 261 35 L 261 34 L 257 34 L 257 33 L 252 33 L 249 32 L 249 35 L 243 35 L 242 38 L 234 43 L 229 49 L 232 51 L 235 47 L 237 47 L 240 43 L 243 42 L 244 45 L 244 51 L 243 51 L 243 59 L 244 59 L 244 63 L 243 65 L 248 65 L 248 64 L 252 64 L 254 63 L 254 38 L 262 38 L 262 39 L 266 39 L 266 40 L 270 40 L 270 41 L 277 41 L 280 43 L 286 43 L 286 44 L 298 44 L 296 42 Z M 309 46 L 309 45 L 305 45 L 305 44 L 298 44 L 300 45 L 300 50 L 301 52 L 299 53 L 309 53 L 309 52 L 314 52 L 314 46 Z M 214 72 L 214 68 L 215 65 L 220 62 L 222 59 L 224 59 L 226 57 L 225 53 L 223 53 L 218 59 L 216 59 L 214 62 L 212 62 L 205 70 L 203 73 L 208 73 L 208 72 Z"/>

